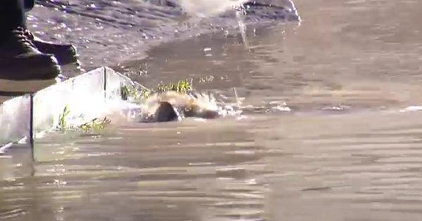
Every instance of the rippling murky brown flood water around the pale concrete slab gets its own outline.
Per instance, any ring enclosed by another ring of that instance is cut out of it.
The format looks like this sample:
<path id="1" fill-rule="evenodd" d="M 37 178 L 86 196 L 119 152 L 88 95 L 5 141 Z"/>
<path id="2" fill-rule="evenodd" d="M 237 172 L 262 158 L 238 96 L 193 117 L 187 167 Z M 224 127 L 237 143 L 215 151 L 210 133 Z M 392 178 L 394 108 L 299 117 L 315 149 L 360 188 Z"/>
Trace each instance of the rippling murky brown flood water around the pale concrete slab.
<path id="1" fill-rule="evenodd" d="M 145 33 L 156 39 L 121 26 L 123 12 L 103 24 L 112 34 L 65 32 L 88 70 L 110 65 L 148 87 L 188 77 L 228 101 L 236 88 L 243 113 L 54 135 L 39 140 L 37 163 L 14 149 L 0 158 L 0 219 L 420 219 L 422 2 L 295 4 L 300 24 L 246 18 L 248 44 L 230 16 L 211 19 L 219 31 L 200 21 L 170 37 L 186 20 L 176 9 L 153 13 Z M 68 6 L 66 27 L 82 5 Z M 31 24 L 58 27 L 54 8 L 35 8 Z M 52 30 L 39 34 L 64 39 Z"/>

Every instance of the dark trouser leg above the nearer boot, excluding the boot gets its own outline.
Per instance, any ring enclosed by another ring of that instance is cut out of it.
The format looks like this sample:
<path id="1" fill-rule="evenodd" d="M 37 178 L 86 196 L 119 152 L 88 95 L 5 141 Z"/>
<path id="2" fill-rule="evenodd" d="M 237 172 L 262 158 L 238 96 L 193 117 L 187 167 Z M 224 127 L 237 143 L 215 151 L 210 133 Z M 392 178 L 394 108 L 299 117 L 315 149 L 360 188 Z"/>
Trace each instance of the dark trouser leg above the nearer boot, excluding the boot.
<path id="1" fill-rule="evenodd" d="M 0 44 L 16 27 L 25 27 L 23 0 L 0 0 Z"/>

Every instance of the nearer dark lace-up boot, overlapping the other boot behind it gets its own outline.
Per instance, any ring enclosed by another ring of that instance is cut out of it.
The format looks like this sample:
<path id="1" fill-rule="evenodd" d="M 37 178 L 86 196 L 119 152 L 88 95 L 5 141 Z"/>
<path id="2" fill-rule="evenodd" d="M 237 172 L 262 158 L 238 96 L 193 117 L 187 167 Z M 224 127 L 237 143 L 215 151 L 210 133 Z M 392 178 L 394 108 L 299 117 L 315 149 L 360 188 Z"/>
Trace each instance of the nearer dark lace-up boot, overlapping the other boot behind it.
<path id="1" fill-rule="evenodd" d="M 18 27 L 0 43 L 0 79 L 49 80 L 60 74 L 56 58 L 41 53 Z"/>

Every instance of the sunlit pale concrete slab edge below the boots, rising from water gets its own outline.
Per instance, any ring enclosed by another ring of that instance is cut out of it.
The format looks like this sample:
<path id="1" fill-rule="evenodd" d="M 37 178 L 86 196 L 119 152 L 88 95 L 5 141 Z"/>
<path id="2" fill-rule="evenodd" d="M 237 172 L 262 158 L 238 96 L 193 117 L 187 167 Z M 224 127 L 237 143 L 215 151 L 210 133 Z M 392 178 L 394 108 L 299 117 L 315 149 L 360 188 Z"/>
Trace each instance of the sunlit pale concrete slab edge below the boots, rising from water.
<path id="1" fill-rule="evenodd" d="M 33 148 L 37 134 L 59 127 L 63 114 L 69 126 L 100 118 L 121 101 L 122 86 L 133 84 L 103 67 L 5 101 L 0 105 L 0 153 L 16 144 Z"/>

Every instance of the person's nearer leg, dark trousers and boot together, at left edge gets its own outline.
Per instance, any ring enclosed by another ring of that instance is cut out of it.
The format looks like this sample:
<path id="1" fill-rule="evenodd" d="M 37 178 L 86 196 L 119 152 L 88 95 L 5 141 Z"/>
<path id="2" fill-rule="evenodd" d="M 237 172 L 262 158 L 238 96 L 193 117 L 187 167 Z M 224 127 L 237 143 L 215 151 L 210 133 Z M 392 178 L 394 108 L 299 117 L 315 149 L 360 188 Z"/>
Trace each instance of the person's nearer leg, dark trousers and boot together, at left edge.
<path id="1" fill-rule="evenodd" d="M 0 0 L 0 79 L 54 79 L 60 74 L 56 58 L 26 37 L 24 7 L 23 0 Z"/>

